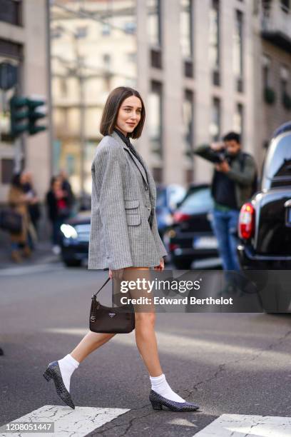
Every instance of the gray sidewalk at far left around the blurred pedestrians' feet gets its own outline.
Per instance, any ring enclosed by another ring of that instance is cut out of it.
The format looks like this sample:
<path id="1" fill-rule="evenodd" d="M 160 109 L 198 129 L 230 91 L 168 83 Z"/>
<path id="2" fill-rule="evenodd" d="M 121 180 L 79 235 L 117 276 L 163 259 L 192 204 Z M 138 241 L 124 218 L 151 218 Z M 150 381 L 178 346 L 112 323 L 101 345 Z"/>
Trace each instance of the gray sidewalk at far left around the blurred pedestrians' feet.
<path id="1" fill-rule="evenodd" d="M 31 258 L 24 258 L 21 263 L 11 261 L 9 235 L 1 232 L 0 245 L 0 268 L 11 268 L 16 266 L 31 266 L 36 264 L 58 263 L 61 261 L 59 255 L 51 251 L 51 241 L 39 241 L 31 255 Z"/>

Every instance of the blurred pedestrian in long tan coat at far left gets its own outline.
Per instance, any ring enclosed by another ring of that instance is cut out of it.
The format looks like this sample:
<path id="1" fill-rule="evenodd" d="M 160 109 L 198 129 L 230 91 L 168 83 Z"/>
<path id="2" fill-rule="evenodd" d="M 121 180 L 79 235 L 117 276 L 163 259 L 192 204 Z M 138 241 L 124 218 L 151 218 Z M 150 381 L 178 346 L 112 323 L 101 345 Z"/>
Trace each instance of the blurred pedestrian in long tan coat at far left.
<path id="1" fill-rule="evenodd" d="M 9 188 L 8 203 L 11 209 L 21 216 L 21 231 L 11 233 L 11 258 L 14 262 L 20 263 L 24 258 L 31 256 L 29 247 L 29 209 L 30 196 L 24 193 L 24 177 L 22 173 L 14 174 Z"/>

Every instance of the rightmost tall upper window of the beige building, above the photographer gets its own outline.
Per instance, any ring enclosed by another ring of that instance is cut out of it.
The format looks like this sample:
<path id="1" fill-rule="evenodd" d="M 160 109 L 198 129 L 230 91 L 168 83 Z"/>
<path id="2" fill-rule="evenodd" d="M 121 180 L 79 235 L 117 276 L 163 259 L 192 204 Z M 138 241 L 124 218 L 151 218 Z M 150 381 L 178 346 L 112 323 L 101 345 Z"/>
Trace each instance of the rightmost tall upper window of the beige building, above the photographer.
<path id="1" fill-rule="evenodd" d="M 243 77 L 243 15 L 235 11 L 235 34 L 233 41 L 233 69 L 237 80 L 237 90 L 242 92 Z"/>

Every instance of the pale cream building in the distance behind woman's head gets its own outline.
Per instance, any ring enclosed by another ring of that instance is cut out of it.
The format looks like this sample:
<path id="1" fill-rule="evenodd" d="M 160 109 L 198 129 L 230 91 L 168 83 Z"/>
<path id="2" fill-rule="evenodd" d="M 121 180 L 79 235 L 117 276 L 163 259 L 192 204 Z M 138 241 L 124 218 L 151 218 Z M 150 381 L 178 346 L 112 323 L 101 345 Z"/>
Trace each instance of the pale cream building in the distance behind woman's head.
<path id="1" fill-rule="evenodd" d="M 53 172 L 66 169 L 76 193 L 91 192 L 91 161 L 109 92 L 137 86 L 136 53 L 135 1 L 53 4 Z"/>

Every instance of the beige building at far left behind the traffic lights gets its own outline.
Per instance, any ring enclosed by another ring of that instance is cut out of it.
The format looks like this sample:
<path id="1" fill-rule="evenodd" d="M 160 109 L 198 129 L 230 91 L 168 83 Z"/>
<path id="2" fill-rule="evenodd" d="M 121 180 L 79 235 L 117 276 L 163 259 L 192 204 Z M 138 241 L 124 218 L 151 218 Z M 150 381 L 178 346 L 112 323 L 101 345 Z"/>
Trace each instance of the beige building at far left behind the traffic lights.
<path id="1" fill-rule="evenodd" d="M 17 141 L 9 134 L 11 96 L 41 96 L 49 107 L 48 10 L 46 0 L 0 0 L 2 84 L 9 81 L 3 64 L 16 67 L 16 84 L 0 89 L 1 203 L 6 201 L 14 170 L 25 167 L 32 171 L 40 196 L 44 196 L 51 176 L 50 129 Z"/>

